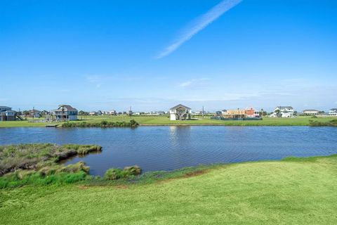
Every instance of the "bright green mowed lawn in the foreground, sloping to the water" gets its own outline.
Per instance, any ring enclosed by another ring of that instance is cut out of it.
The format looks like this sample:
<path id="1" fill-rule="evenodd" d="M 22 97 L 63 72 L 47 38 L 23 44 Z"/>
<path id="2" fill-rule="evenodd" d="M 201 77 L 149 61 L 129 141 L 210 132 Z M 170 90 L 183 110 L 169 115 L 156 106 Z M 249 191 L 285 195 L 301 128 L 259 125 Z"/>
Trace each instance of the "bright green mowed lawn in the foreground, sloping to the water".
<path id="1" fill-rule="evenodd" d="M 0 190 L 1 224 L 337 224 L 337 157 L 246 162 L 125 186 Z"/>

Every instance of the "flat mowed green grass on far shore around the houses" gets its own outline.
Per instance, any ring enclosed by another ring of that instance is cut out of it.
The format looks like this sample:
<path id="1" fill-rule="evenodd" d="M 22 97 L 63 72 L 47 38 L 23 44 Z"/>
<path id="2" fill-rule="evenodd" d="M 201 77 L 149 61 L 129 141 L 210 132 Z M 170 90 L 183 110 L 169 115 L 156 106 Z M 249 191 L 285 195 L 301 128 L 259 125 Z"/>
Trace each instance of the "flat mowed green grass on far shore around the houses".
<path id="1" fill-rule="evenodd" d="M 136 120 L 140 125 L 224 125 L 224 126 L 308 126 L 309 120 L 318 122 L 328 122 L 336 117 L 296 117 L 296 118 L 271 118 L 264 117 L 263 120 L 255 121 L 224 121 L 211 120 L 210 117 L 198 117 L 198 120 L 187 121 L 171 121 L 167 116 L 79 116 L 79 120 L 87 122 L 100 122 L 106 120 L 108 122 L 129 122 Z M 53 124 L 62 124 L 62 122 L 53 122 Z M 29 121 L 3 121 L 0 127 L 45 127 L 46 123 L 29 122 Z"/>

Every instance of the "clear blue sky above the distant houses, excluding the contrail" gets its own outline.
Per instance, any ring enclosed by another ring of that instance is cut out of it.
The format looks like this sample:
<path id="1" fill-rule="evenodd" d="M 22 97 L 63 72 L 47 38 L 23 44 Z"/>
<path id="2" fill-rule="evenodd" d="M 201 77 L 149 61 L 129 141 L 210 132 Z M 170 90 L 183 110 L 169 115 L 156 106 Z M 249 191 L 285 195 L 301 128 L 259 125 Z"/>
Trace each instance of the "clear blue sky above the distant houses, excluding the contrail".
<path id="1" fill-rule="evenodd" d="M 337 1 L 0 1 L 0 105 L 337 108 Z M 202 21 L 201 21 L 202 22 Z"/>

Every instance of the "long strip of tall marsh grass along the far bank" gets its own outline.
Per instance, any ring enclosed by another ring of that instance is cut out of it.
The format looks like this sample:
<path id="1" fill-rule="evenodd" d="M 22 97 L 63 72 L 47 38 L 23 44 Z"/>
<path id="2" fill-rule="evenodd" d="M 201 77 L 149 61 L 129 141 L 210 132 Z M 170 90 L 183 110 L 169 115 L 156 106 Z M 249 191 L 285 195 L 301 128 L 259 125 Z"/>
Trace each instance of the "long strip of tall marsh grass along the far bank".
<path id="1" fill-rule="evenodd" d="M 138 127 L 136 120 L 130 120 L 130 122 L 112 122 L 103 120 L 100 122 L 65 122 L 62 127 Z"/>

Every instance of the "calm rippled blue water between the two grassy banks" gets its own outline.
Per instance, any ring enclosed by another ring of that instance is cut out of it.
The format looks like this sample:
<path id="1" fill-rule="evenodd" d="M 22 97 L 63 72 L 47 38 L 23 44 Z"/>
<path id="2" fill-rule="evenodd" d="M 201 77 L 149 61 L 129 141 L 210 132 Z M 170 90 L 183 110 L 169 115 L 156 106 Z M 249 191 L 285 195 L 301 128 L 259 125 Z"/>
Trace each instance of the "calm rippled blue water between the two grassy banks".
<path id="1" fill-rule="evenodd" d="M 215 162 L 277 160 L 287 156 L 337 153 L 335 127 L 138 127 L 4 128 L 0 144 L 95 143 L 100 154 L 84 160 L 91 174 L 110 167 L 139 165 L 143 171 L 170 170 Z"/>

